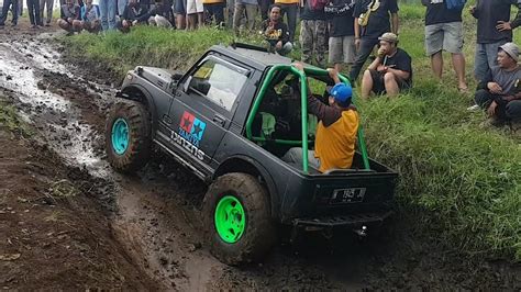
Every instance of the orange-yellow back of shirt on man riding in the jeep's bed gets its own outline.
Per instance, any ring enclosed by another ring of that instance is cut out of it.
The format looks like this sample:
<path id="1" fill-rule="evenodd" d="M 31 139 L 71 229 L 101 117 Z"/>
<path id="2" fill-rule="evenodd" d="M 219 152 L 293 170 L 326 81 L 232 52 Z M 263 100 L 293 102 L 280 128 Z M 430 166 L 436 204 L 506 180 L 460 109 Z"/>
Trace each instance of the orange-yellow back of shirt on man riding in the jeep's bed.
<path id="1" fill-rule="evenodd" d="M 347 169 L 355 155 L 356 133 L 358 132 L 358 113 L 353 110 L 342 112 L 342 117 L 330 126 L 322 121 L 317 127 L 314 157 L 320 159 L 320 171 Z"/>

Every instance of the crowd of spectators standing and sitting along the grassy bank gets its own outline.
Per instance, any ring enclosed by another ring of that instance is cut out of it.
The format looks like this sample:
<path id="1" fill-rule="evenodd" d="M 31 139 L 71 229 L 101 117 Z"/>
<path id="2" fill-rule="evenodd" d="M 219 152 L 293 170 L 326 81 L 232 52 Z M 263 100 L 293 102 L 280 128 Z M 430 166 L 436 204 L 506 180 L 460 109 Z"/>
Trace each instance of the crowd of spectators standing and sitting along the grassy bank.
<path id="1" fill-rule="evenodd" d="M 22 1 L 3 0 L 0 29 L 10 10 L 11 25 L 18 24 Z M 125 33 L 142 24 L 189 31 L 211 25 L 228 27 L 236 35 L 260 33 L 268 50 L 287 55 L 296 45 L 296 30 L 300 27 L 298 43 L 304 63 L 320 67 L 329 63 L 335 70 L 348 72 L 355 82 L 370 58 L 361 78 L 363 98 L 373 93 L 395 97 L 412 87 L 412 59 L 407 48 L 398 47 L 398 0 L 99 0 L 98 4 L 92 0 L 59 1 L 57 25 L 69 34 L 111 30 Z M 425 53 L 434 79 L 442 79 L 445 50 L 451 54 L 457 89 L 468 93 L 463 53 L 466 0 L 421 3 L 426 8 Z M 52 24 L 53 4 L 54 0 L 26 0 L 33 29 Z M 511 21 L 512 5 L 518 8 L 518 14 Z M 520 11 L 519 0 L 480 0 L 468 8 L 468 13 L 477 19 L 474 77 L 479 87 L 475 106 L 485 108 L 499 124 L 521 117 L 519 48 L 511 43 L 512 30 L 521 24 Z"/>

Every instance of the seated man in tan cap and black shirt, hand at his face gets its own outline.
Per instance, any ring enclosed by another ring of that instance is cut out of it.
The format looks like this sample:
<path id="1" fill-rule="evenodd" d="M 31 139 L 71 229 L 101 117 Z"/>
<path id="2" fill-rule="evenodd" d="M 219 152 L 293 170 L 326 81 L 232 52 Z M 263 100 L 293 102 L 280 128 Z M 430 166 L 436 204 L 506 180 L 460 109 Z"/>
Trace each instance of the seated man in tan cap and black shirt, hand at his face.
<path id="1" fill-rule="evenodd" d="M 385 33 L 380 37 L 380 47 L 376 59 L 364 71 L 362 78 L 362 98 L 367 99 L 370 92 L 387 93 L 395 97 L 412 85 L 411 57 L 398 47 L 398 36 Z"/>

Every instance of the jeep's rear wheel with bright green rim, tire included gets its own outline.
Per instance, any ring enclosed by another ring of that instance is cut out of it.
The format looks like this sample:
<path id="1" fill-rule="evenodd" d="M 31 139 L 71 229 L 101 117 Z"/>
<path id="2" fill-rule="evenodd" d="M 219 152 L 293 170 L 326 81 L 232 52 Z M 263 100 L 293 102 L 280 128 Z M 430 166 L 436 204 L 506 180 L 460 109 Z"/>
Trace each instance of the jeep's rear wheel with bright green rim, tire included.
<path id="1" fill-rule="evenodd" d="M 277 242 L 266 189 L 253 176 L 228 173 L 209 188 L 203 202 L 210 250 L 236 266 L 262 260 Z"/>

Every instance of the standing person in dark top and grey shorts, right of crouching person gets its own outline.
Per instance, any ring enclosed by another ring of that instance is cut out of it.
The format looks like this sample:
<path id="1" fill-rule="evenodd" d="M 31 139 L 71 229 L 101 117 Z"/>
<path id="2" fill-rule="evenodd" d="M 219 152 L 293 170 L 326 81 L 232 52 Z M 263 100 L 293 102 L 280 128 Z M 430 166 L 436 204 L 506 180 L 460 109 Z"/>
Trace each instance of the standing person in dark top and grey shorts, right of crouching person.
<path id="1" fill-rule="evenodd" d="M 329 61 L 342 71 L 342 65 L 353 65 L 356 55 L 353 8 L 355 0 L 333 0 L 324 8 L 330 19 Z"/>

